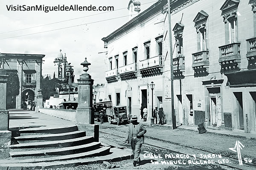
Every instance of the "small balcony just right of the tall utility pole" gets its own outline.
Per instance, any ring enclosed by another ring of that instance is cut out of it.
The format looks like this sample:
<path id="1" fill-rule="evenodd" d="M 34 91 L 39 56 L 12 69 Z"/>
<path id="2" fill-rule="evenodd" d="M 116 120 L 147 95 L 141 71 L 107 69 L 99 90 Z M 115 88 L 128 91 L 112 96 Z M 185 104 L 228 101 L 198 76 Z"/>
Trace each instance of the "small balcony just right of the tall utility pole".
<path id="1" fill-rule="evenodd" d="M 185 57 L 180 55 L 173 59 L 173 75 L 175 78 L 184 77 L 185 72 Z"/>

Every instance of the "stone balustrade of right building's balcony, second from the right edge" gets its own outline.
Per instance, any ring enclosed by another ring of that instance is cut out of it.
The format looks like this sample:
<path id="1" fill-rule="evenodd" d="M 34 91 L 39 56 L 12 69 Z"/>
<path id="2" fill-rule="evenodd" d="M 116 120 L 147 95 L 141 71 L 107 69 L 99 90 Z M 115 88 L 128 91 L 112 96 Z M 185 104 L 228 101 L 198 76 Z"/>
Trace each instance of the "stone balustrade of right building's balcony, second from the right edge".
<path id="1" fill-rule="evenodd" d="M 240 44 L 239 42 L 234 42 L 220 46 L 220 59 L 240 55 Z"/>

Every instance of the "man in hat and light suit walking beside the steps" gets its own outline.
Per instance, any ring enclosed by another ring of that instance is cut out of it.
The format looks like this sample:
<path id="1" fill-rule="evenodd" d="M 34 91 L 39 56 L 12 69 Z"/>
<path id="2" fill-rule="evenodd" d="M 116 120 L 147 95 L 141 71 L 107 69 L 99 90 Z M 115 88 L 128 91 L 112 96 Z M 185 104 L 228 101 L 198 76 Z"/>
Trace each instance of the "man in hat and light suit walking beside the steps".
<path id="1" fill-rule="evenodd" d="M 125 142 L 131 144 L 131 149 L 134 154 L 134 167 L 140 165 L 140 151 L 142 144 L 144 144 L 144 134 L 147 132 L 146 127 L 137 122 L 136 115 L 131 116 L 131 123 L 128 125 L 128 134 Z"/>

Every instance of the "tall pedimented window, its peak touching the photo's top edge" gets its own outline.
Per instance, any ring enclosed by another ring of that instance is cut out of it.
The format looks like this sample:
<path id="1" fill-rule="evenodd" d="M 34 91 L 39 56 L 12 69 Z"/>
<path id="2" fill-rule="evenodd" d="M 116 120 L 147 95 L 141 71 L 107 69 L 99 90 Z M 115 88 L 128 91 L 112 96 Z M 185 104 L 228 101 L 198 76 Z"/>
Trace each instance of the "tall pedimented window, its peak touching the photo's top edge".
<path id="1" fill-rule="evenodd" d="M 239 1 L 226 0 L 221 6 L 221 15 L 225 23 L 225 42 L 231 44 L 237 42 L 237 8 Z"/>

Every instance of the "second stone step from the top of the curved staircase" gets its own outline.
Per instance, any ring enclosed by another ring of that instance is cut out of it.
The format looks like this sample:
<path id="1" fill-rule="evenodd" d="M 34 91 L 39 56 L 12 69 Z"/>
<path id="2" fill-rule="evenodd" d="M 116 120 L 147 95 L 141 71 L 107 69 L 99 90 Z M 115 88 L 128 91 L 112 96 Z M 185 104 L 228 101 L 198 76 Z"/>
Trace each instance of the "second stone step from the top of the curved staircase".
<path id="1" fill-rule="evenodd" d="M 67 133 L 55 133 L 55 134 L 36 134 L 14 137 L 17 141 L 24 140 L 65 140 L 74 139 L 82 136 L 86 136 L 86 132 L 83 130 L 67 132 Z"/>

